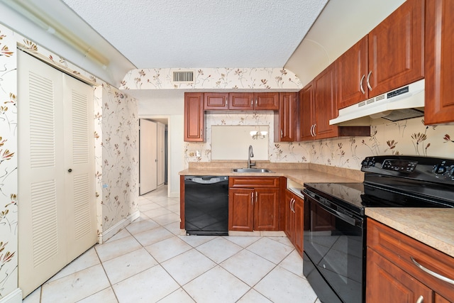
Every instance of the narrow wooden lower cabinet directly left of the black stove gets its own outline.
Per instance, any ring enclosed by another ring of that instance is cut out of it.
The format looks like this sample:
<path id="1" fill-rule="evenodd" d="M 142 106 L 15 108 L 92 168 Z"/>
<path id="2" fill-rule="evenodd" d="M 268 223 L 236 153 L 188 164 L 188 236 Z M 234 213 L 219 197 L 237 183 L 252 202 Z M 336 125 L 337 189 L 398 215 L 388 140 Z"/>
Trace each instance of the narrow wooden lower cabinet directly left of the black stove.
<path id="1" fill-rule="evenodd" d="M 302 257 L 304 242 L 304 199 L 301 199 L 289 191 L 289 189 L 286 190 L 285 197 L 287 207 L 285 211 L 284 232 Z"/>

